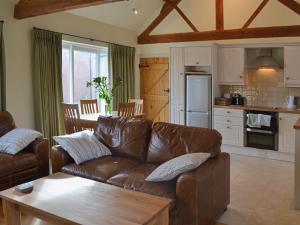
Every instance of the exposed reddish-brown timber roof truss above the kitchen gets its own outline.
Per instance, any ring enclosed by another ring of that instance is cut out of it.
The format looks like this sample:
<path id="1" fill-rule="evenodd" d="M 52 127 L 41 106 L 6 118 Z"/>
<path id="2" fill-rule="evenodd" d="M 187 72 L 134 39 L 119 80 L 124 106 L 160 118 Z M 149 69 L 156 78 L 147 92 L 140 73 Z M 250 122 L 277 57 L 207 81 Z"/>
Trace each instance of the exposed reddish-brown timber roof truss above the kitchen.
<path id="1" fill-rule="evenodd" d="M 264 9 L 269 0 L 262 0 L 258 8 L 240 29 L 224 29 L 224 3 L 223 0 L 216 1 L 216 29 L 200 32 L 182 12 L 178 6 L 181 0 L 165 0 L 165 4 L 159 16 L 138 37 L 139 44 L 187 42 L 187 41 L 209 41 L 246 38 L 271 38 L 271 37 L 296 37 L 300 36 L 300 25 L 249 28 L 254 19 Z M 278 0 L 283 5 L 300 15 L 300 4 L 295 0 Z M 188 23 L 193 32 L 151 35 L 150 33 L 173 11 L 176 10 Z"/>

